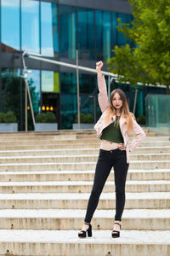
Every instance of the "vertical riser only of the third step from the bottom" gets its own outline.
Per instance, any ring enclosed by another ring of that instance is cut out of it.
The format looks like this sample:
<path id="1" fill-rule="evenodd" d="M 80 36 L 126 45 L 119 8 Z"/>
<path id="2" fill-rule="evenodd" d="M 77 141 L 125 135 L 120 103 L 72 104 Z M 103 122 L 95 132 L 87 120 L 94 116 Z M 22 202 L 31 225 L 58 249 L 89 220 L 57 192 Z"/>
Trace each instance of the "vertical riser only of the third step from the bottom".
<path id="1" fill-rule="evenodd" d="M 86 209 L 88 200 L 0 200 L 0 209 Z M 115 209 L 116 200 L 99 200 L 98 209 Z M 126 209 L 169 209 L 168 199 L 126 199 Z"/>

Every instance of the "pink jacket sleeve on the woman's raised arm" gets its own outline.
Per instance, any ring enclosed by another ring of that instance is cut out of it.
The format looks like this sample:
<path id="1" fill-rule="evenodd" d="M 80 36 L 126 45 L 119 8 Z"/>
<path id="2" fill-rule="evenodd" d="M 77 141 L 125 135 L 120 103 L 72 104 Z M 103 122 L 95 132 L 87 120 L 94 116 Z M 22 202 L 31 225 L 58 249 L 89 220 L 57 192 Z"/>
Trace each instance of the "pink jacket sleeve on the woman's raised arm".
<path id="1" fill-rule="evenodd" d="M 103 113 L 110 104 L 107 97 L 107 87 L 105 84 L 105 76 L 102 74 L 98 74 L 98 89 L 99 89 L 99 94 L 98 94 L 99 108 Z"/>

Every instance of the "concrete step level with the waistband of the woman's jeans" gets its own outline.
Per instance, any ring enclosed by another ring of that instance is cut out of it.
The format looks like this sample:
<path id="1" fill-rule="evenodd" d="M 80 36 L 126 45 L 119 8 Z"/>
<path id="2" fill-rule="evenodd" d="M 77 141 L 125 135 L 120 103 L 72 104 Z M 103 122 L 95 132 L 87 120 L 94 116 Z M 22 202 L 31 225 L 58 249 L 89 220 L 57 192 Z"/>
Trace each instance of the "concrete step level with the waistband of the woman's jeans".
<path id="1" fill-rule="evenodd" d="M 161 154 L 170 153 L 170 147 L 138 147 L 131 154 Z M 1 150 L 0 156 L 27 156 L 27 155 L 68 155 L 68 154 L 99 154 L 99 148 L 59 148 L 34 150 Z"/>

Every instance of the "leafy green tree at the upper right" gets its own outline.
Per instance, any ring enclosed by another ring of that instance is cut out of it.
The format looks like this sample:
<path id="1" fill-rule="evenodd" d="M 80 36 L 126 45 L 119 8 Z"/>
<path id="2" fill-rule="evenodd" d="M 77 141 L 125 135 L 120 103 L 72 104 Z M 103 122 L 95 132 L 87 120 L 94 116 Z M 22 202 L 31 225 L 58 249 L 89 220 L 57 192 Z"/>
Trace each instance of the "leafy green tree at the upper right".
<path id="1" fill-rule="evenodd" d="M 130 84 L 170 84 L 170 0 L 128 0 L 133 8 L 132 25 L 117 29 L 136 44 L 115 46 L 108 69 L 120 82 Z"/>

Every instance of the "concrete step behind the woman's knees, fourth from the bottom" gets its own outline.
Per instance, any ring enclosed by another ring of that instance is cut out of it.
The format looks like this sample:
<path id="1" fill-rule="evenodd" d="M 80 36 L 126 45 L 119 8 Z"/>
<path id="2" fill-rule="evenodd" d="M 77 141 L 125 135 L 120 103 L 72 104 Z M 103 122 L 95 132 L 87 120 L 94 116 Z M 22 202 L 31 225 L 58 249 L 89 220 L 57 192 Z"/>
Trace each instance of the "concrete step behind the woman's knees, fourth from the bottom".
<path id="1" fill-rule="evenodd" d="M 90 193 L 91 181 L 0 182 L 0 193 Z M 105 193 L 115 191 L 115 183 L 106 181 Z M 170 181 L 127 181 L 127 192 L 167 192 Z"/>

